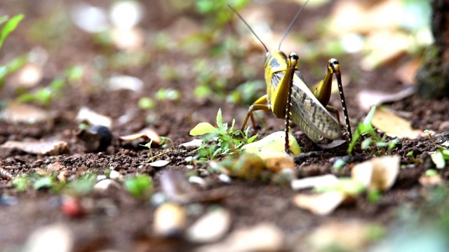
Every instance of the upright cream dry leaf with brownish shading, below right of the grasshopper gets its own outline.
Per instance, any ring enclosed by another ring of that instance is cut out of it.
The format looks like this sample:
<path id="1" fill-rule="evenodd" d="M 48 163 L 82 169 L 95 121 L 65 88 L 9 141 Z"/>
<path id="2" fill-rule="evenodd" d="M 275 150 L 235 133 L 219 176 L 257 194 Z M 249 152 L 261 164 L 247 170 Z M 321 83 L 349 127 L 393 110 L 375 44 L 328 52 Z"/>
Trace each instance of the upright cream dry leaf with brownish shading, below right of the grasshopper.
<path id="1" fill-rule="evenodd" d="M 388 190 L 396 181 L 400 161 L 398 155 L 389 155 L 361 162 L 352 168 L 351 178 L 369 190 Z"/>

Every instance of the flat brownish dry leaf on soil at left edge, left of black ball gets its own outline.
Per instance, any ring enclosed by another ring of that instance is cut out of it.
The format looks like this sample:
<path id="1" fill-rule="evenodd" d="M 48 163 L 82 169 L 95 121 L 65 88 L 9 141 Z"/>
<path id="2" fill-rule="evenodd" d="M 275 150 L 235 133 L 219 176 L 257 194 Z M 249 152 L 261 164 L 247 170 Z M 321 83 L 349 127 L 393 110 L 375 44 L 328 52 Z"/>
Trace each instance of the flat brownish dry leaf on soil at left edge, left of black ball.
<path id="1" fill-rule="evenodd" d="M 60 155 L 69 151 L 69 144 L 65 141 L 6 141 L 0 148 L 24 151 L 39 155 Z"/>

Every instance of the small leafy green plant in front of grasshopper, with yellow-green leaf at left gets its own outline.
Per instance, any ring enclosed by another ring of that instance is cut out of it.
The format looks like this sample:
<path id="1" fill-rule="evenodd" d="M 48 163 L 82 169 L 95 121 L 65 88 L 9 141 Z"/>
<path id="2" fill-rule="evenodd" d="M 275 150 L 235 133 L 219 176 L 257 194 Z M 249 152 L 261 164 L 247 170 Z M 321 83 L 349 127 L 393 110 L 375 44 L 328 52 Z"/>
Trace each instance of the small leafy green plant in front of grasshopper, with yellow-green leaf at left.
<path id="1" fill-rule="evenodd" d="M 213 160 L 217 155 L 233 155 L 239 154 L 241 146 L 252 143 L 257 135 L 248 137 L 249 127 L 245 132 L 234 130 L 235 120 L 232 120 L 231 127 L 227 123 L 223 123 L 222 111 L 217 113 L 217 128 L 210 123 L 199 123 L 191 131 L 191 136 L 204 136 L 203 144 L 196 150 L 200 159 Z M 243 137 L 243 139 L 241 138 Z M 214 144 L 208 144 L 213 141 Z"/>

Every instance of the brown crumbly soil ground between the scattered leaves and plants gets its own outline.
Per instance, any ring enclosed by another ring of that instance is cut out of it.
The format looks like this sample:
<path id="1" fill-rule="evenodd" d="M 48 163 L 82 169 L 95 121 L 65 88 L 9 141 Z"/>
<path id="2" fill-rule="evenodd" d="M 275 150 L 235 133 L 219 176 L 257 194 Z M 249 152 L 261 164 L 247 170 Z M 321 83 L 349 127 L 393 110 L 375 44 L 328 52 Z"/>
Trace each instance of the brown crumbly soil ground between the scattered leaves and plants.
<path id="1" fill-rule="evenodd" d="M 72 64 L 82 64 L 86 69 L 86 76 L 83 80 L 73 85 L 66 85 L 62 89 L 62 94 L 57 99 L 51 101 L 50 106 L 44 107 L 51 111 L 53 120 L 51 123 L 9 123 L 6 120 L 0 121 L 0 144 L 8 140 L 23 141 L 27 139 L 58 139 L 67 142 L 69 149 L 67 153 L 60 155 L 32 155 L 22 151 L 11 151 L 9 149 L 0 150 L 0 168 L 11 173 L 12 176 L 22 174 L 34 174 L 46 171 L 48 165 L 59 162 L 62 165 L 61 171 L 66 171 L 67 178 L 74 179 L 93 172 L 94 174 L 105 174 L 106 169 L 114 169 L 122 176 L 133 176 L 135 174 L 148 174 L 154 179 L 154 191 L 160 192 L 161 173 L 167 170 L 177 170 L 186 174 L 197 174 L 206 180 L 207 186 L 199 191 L 216 200 L 205 203 L 186 204 L 188 209 L 187 226 L 194 223 L 196 219 L 203 216 L 210 207 L 220 206 L 231 213 L 232 230 L 257 225 L 259 223 L 274 223 L 284 234 L 283 249 L 290 251 L 307 237 L 311 230 L 324 223 L 345 220 L 363 220 L 383 225 L 387 229 L 396 226 L 398 207 L 407 206 L 410 209 L 420 207 L 425 201 L 425 194 L 422 193 L 422 185 L 418 182 L 427 169 L 434 168 L 430 160 L 429 152 L 435 151 L 435 144 L 428 138 L 418 138 L 415 140 L 403 139 L 392 153 L 401 157 L 401 165 L 408 165 L 407 169 L 401 169 L 394 187 L 383 193 L 380 200 L 370 202 L 366 195 L 356 198 L 353 204 L 338 207 L 329 216 L 316 216 L 309 211 L 300 209 L 293 204 L 292 199 L 297 194 L 290 186 L 279 186 L 276 183 L 264 181 L 246 181 L 233 179 L 231 183 L 224 183 L 218 178 L 218 174 L 210 172 L 207 165 L 192 165 L 186 158 L 196 155 L 194 148 L 185 148 L 180 144 L 194 139 L 189 136 L 189 131 L 200 122 L 215 122 L 218 109 L 222 109 L 225 121 L 230 122 L 236 118 L 236 125 L 241 125 L 248 105 L 236 105 L 220 99 L 196 99 L 193 94 L 197 79 L 195 76 L 185 76 L 177 80 L 166 80 L 157 74 L 161 64 L 172 66 L 175 70 L 182 69 L 193 64 L 194 57 L 182 51 L 156 50 L 149 42 L 142 49 L 148 54 L 149 61 L 138 66 L 123 66 L 121 69 L 107 66 L 102 70 L 102 78 L 106 79 L 114 74 L 128 74 L 140 78 L 145 83 L 139 92 L 132 90 L 107 90 L 105 87 L 92 83 L 95 79 L 93 75 L 96 70 L 91 68 L 95 65 L 95 57 L 98 55 L 114 55 L 119 53 L 113 46 L 105 47 L 98 45 L 92 36 L 80 29 L 69 25 L 67 31 L 55 31 L 51 37 L 51 42 L 37 40 L 29 36 L 30 31 L 36 32 L 36 23 L 53 17 L 54 9 L 67 11 L 71 6 L 70 1 L 6 1 L 2 3 L 4 8 L 0 10 L 0 15 L 14 15 L 25 13 L 26 18 L 4 44 L 1 49 L 2 62 L 7 62 L 12 57 L 29 52 L 33 48 L 45 48 L 48 52 L 48 62 L 43 66 L 43 78 L 38 83 L 38 87 L 44 87 L 51 80 L 58 76 Z M 109 7 L 103 2 L 103 7 Z M 99 3 L 95 3 L 99 4 Z M 204 18 L 191 10 L 183 10 L 175 13 L 177 16 L 169 15 L 166 5 L 162 3 L 143 3 L 145 18 L 142 20 L 142 29 L 147 32 L 147 36 L 161 30 L 169 29 L 179 17 L 189 18 L 198 24 L 204 22 Z M 56 6 L 56 7 L 55 7 Z M 253 4 L 251 6 L 257 6 Z M 297 5 L 290 1 L 281 3 L 270 3 L 272 8 L 276 8 L 276 13 L 286 13 L 285 16 L 293 16 Z M 295 8 L 291 8 L 294 6 Z M 250 7 L 249 7 L 250 8 Z M 331 6 L 324 6 L 316 10 L 304 11 L 305 19 L 320 20 L 329 15 Z M 160 10 L 160 11 L 158 11 Z M 283 11 L 282 11 L 283 10 Z M 67 14 L 67 13 L 66 13 Z M 288 15 L 287 15 L 288 14 Z M 282 15 L 283 17 L 283 15 Z M 286 20 L 284 20 L 286 19 Z M 274 18 L 276 27 L 286 27 L 290 18 Z M 69 22 L 69 21 L 66 21 Z M 45 23 L 46 25 L 51 22 Z M 67 24 L 64 24 L 67 25 Z M 58 25 L 47 27 L 56 29 Z M 295 27 L 303 29 L 304 24 Z M 229 29 L 229 28 L 227 28 Z M 233 29 L 229 29 L 232 33 Z M 50 35 L 48 35 L 50 36 Z M 248 39 L 248 38 L 247 38 Z M 252 52 L 253 57 L 263 60 L 263 52 L 257 49 Z M 109 57 L 109 56 L 107 56 Z M 198 57 L 198 56 L 196 56 Z M 208 57 L 204 54 L 202 57 Z M 325 70 L 326 59 L 318 59 L 315 63 L 319 69 Z M 361 71 L 358 66 L 358 56 L 344 57 L 340 59 L 342 71 L 358 73 L 356 78 L 345 85 L 347 106 L 352 122 L 352 127 L 366 116 L 366 111 L 358 109 L 356 95 L 361 90 L 401 90 L 403 85 L 394 78 L 394 71 L 399 66 L 399 62 L 393 62 L 388 66 L 381 66 L 375 71 Z M 314 83 L 319 80 L 319 76 L 307 74 L 309 69 L 316 66 L 304 66 L 304 78 Z M 323 67 L 321 67 L 323 66 Z M 185 70 L 182 70 L 185 71 Z M 254 66 L 257 71 L 255 79 L 262 79 L 262 64 Z M 3 90 L 1 90 L 1 101 L 8 101 L 15 97 L 13 88 L 13 78 L 7 80 Z M 106 81 L 106 80 L 103 80 Z M 101 81 L 100 81 L 101 82 Z M 234 89 L 239 83 L 229 82 L 229 87 L 225 90 Z M 178 101 L 162 100 L 157 101 L 156 109 L 140 109 L 138 101 L 140 97 L 153 97 L 156 90 L 161 87 L 172 87 L 180 90 L 182 99 Z M 337 96 L 331 99 L 331 104 L 340 108 Z M 86 147 L 74 132 L 78 130 L 79 122 L 74 120 L 76 113 L 82 106 L 93 109 L 95 112 L 112 118 L 112 134 L 114 139 L 112 145 L 103 152 L 87 153 Z M 391 104 L 391 109 L 400 111 L 401 116 L 410 121 L 417 130 L 438 130 L 441 132 L 444 123 L 447 123 L 449 100 L 438 101 L 423 100 L 417 96 L 408 97 Z M 128 120 L 123 123 L 123 115 L 128 116 Z M 257 131 L 260 136 L 282 130 L 283 121 L 272 117 L 270 113 L 263 116 L 266 127 Z M 152 118 L 152 120 L 148 120 Z M 167 150 L 163 148 L 152 148 L 153 155 L 163 153 L 159 160 L 170 161 L 166 167 L 156 168 L 148 165 L 150 152 L 147 148 L 136 148 L 136 146 L 123 146 L 119 144 L 117 138 L 125 134 L 133 134 L 145 127 L 152 128 L 161 136 L 173 140 L 175 148 Z M 297 127 L 293 127 L 295 137 L 303 146 L 304 153 L 310 151 L 321 151 L 321 149 L 311 143 L 307 137 L 300 132 Z M 349 176 L 351 167 L 359 162 L 373 158 L 370 151 L 363 151 L 356 148 L 353 155 L 347 155 L 343 148 L 336 148 L 323 151 L 322 155 L 306 158 L 300 165 L 295 166 L 295 175 L 298 178 L 305 176 L 316 176 L 333 173 L 337 176 Z M 413 161 L 407 154 L 413 151 L 419 160 Z M 337 158 L 347 159 L 339 171 L 331 169 L 333 162 Z M 190 166 L 192 165 L 192 166 Z M 439 169 L 443 181 L 449 178 L 447 167 Z M 107 248 L 114 248 L 118 251 L 188 251 L 199 246 L 189 243 L 181 238 L 161 239 L 154 234 L 152 225 L 154 224 L 154 211 L 156 205 L 149 200 L 136 200 L 123 188 L 123 182 L 119 181 L 117 186 L 112 186 L 107 190 L 94 190 L 83 195 L 81 199 L 93 205 L 87 214 L 72 218 L 62 211 L 61 205 L 65 202 L 65 195 L 61 193 L 51 193 L 48 190 L 34 190 L 29 186 L 25 192 L 19 192 L 13 187 L 11 178 L 2 177 L 0 179 L 1 195 L 14 197 L 16 202 L 11 205 L 0 204 L 0 250 L 17 251 L 22 248 L 30 234 L 41 227 L 53 223 L 63 223 L 72 230 L 74 234 L 73 251 L 100 251 Z"/>

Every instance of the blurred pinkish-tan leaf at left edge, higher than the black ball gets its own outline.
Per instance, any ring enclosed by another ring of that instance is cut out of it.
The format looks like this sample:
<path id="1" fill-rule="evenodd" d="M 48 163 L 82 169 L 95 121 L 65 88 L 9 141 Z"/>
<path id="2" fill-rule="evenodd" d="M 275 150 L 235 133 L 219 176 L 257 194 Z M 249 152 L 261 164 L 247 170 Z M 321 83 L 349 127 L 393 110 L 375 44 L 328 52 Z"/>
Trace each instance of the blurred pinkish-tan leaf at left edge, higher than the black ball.
<path id="1" fill-rule="evenodd" d="M 39 109 L 29 104 L 9 103 L 6 109 L 0 113 L 0 119 L 8 123 L 39 123 L 52 122 L 51 114 L 48 111 Z"/>

